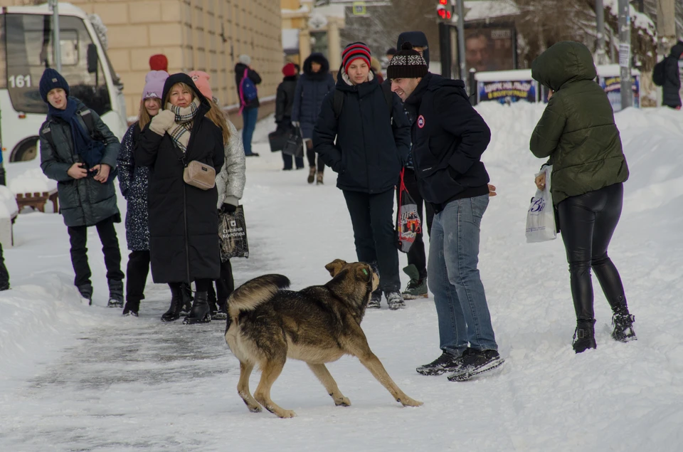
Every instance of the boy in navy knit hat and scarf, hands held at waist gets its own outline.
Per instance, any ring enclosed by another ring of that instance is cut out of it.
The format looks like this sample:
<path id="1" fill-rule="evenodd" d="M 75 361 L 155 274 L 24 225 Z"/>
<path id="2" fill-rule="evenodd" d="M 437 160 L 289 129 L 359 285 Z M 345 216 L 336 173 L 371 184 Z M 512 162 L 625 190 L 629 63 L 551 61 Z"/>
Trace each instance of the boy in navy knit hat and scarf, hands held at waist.
<path id="1" fill-rule="evenodd" d="M 74 285 L 92 304 L 88 227 L 95 226 L 107 266 L 110 308 L 123 308 L 121 251 L 114 228 L 121 222 L 114 187 L 119 140 L 94 111 L 69 97 L 69 85 L 52 68 L 40 83 L 48 117 L 41 125 L 41 168 L 57 181 L 60 213 L 69 231 Z M 92 130 L 88 127 L 92 125 Z"/>

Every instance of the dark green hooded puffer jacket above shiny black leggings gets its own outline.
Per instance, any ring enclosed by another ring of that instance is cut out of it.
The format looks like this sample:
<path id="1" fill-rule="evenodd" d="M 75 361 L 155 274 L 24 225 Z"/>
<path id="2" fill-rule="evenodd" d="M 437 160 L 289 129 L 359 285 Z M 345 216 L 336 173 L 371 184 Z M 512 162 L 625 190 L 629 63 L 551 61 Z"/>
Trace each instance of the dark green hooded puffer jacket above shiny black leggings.
<path id="1" fill-rule="evenodd" d="M 531 64 L 531 77 L 555 91 L 529 143 L 536 157 L 550 157 L 554 204 L 628 179 L 612 105 L 596 75 L 591 51 L 573 41 L 556 43 Z"/>

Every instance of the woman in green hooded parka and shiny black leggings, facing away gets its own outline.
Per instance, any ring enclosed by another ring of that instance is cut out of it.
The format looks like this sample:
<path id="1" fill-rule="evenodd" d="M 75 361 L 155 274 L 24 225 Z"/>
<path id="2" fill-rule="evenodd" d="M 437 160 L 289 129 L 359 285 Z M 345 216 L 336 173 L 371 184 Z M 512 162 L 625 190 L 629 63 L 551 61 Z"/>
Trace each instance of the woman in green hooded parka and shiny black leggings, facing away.
<path id="1" fill-rule="evenodd" d="M 569 263 L 576 310 L 573 349 L 595 348 L 591 268 L 613 310 L 615 340 L 635 340 L 617 268 L 607 254 L 623 204 L 628 167 L 612 106 L 598 83 L 591 51 L 581 43 L 556 43 L 536 58 L 531 76 L 551 90 L 531 135 L 531 152 L 553 166 L 551 194 Z M 543 189 L 545 178 L 536 179 Z"/>

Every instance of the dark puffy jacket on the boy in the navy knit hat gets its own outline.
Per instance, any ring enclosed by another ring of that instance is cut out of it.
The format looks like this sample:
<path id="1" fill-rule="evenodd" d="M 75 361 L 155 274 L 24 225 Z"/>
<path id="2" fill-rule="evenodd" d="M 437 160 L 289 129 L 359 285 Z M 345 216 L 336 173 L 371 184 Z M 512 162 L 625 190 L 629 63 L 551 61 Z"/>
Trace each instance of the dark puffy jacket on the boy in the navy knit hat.
<path id="1" fill-rule="evenodd" d="M 70 98 L 78 103 L 78 115 L 90 110 L 80 100 Z M 66 226 L 95 226 L 100 221 L 115 216 L 114 221 L 120 223 L 121 214 L 116 205 L 115 177 L 116 157 L 119 154 L 119 140 L 109 127 L 94 111 L 90 110 L 95 130 L 102 134 L 106 142 L 102 164 L 111 167 L 110 179 L 102 184 L 92 177 L 73 179 L 68 175 L 69 168 L 76 162 L 77 152 L 73 149 L 71 127 L 68 122 L 57 117 L 48 116 L 41 125 L 41 168 L 50 179 L 57 181 L 60 212 Z M 80 119 L 81 126 L 87 130 L 85 121 Z M 50 131 L 54 147 L 48 141 L 46 132 Z"/>

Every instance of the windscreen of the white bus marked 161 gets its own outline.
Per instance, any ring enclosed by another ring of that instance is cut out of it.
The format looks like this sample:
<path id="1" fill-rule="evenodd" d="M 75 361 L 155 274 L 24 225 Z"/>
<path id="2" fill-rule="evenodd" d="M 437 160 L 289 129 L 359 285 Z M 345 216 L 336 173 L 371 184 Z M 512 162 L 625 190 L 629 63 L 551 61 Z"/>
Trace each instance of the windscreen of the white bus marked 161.
<path id="1" fill-rule="evenodd" d="M 62 75 L 69 83 L 70 95 L 104 115 L 112 110 L 102 64 L 97 73 L 88 73 L 88 44 L 92 43 L 83 20 L 59 17 Z M 46 68 L 55 67 L 52 18 L 42 14 L 6 14 L 6 85 L 17 112 L 47 113 L 38 84 Z"/>

